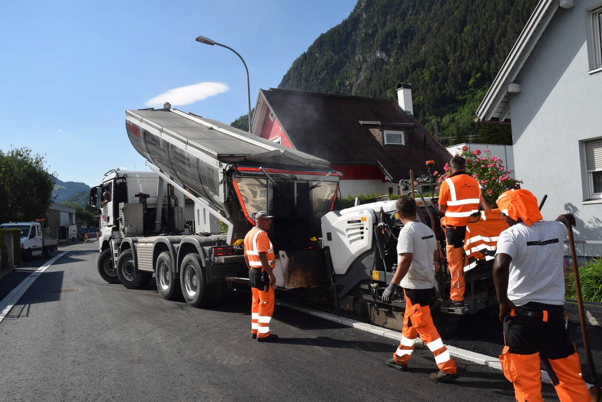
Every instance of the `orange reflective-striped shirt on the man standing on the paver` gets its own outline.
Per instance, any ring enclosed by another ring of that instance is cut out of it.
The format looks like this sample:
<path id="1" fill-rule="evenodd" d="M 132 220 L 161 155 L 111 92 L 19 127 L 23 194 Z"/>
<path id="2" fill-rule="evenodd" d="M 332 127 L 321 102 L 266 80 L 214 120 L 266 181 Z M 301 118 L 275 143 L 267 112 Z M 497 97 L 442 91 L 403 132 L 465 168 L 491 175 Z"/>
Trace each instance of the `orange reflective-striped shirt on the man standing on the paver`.
<path id="1" fill-rule="evenodd" d="M 468 216 L 479 212 L 480 202 L 481 187 L 476 179 L 467 174 L 446 178 L 441 183 L 439 192 L 439 204 L 447 206 L 441 224 L 465 226 L 468 223 Z"/>

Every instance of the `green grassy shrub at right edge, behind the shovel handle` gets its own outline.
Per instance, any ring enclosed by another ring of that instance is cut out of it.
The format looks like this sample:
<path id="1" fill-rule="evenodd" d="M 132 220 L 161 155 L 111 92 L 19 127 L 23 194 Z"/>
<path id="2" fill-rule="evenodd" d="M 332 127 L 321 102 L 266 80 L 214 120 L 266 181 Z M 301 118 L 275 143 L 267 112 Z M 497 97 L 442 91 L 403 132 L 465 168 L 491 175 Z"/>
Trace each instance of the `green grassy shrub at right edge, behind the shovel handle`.
<path id="1" fill-rule="evenodd" d="M 579 283 L 583 301 L 602 303 L 602 260 L 592 259 L 579 266 Z M 565 298 L 576 300 L 575 275 L 565 268 Z"/>

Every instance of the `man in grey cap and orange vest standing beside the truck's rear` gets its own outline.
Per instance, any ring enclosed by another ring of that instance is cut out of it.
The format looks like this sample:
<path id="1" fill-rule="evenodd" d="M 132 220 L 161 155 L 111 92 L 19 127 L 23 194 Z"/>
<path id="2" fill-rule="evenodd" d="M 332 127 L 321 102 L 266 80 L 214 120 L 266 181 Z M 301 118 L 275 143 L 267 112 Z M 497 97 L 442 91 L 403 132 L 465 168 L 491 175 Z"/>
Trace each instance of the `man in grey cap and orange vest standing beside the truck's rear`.
<path id="1" fill-rule="evenodd" d="M 270 332 L 270 320 L 274 312 L 274 285 L 276 277 L 272 269 L 275 255 L 267 232 L 272 218 L 265 211 L 255 214 L 255 227 L 244 236 L 244 260 L 249 268 L 251 285 L 251 338 L 259 342 L 274 342 L 278 335 Z"/>

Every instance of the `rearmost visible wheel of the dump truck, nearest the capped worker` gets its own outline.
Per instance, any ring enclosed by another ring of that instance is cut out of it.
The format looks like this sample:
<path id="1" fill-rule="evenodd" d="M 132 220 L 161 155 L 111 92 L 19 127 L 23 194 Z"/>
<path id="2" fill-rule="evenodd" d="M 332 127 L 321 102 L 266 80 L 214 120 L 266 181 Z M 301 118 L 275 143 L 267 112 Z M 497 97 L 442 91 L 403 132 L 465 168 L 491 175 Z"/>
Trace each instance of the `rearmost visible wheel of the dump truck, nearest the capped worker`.
<path id="1" fill-rule="evenodd" d="M 199 254 L 187 254 L 180 266 L 180 285 L 186 303 L 193 307 L 207 306 L 213 301 L 213 287 L 205 277 Z"/>

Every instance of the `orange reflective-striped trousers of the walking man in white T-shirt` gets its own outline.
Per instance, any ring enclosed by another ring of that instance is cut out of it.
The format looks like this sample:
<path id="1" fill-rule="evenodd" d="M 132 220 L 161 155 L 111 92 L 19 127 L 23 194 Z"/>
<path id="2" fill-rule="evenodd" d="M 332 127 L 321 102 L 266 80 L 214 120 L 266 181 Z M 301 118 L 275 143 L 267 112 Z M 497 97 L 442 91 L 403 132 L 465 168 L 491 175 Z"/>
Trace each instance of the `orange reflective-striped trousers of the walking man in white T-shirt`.
<path id="1" fill-rule="evenodd" d="M 422 290 L 409 289 L 408 293 Z M 424 291 L 431 292 L 430 289 L 424 289 Z M 393 359 L 401 366 L 408 365 L 408 360 L 414 350 L 416 338 L 420 336 L 420 339 L 422 339 L 424 344 L 433 353 L 433 356 L 435 356 L 435 363 L 439 367 L 439 370 L 447 374 L 456 374 L 456 371 L 458 371 L 456 361 L 450 356 L 449 351 L 443 344 L 443 341 L 441 341 L 441 336 L 439 336 L 435 324 L 433 324 L 433 318 L 430 316 L 429 305 L 427 303 L 423 303 L 426 306 L 421 306 L 420 303 L 412 304 L 408 293 L 406 293 L 406 289 L 403 289 L 406 310 L 403 315 L 402 341 L 399 347 L 397 347 L 397 351 L 393 353 Z"/>

